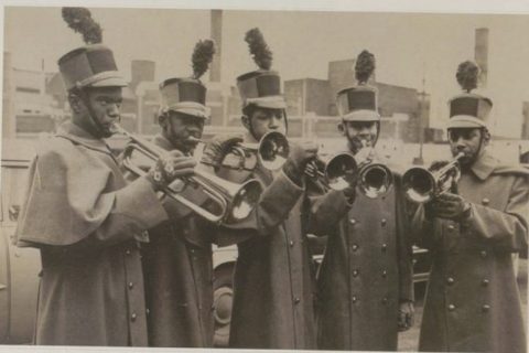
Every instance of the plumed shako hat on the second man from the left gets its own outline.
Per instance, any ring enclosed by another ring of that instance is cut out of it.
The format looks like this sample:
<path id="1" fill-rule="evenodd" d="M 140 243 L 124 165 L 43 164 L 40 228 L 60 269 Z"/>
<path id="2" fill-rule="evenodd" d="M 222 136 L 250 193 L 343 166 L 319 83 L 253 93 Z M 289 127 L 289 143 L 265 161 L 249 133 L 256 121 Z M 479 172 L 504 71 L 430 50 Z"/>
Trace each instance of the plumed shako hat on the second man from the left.
<path id="1" fill-rule="evenodd" d="M 201 77 L 206 73 L 215 54 L 215 42 L 198 41 L 192 56 L 193 75 L 165 79 L 160 85 L 162 109 L 209 119 L 206 107 L 206 86 Z"/>

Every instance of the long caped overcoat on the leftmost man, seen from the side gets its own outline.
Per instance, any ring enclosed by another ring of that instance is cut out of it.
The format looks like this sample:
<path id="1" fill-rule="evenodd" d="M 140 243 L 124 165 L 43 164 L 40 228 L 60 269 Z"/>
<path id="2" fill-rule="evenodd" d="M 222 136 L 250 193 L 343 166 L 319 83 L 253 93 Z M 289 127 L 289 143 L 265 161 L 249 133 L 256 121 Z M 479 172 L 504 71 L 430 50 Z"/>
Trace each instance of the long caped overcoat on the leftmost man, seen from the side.
<path id="1" fill-rule="evenodd" d="M 138 240 L 166 217 L 147 180 L 126 186 L 105 141 L 65 124 L 43 143 L 15 235 L 42 255 L 35 343 L 145 346 Z"/>

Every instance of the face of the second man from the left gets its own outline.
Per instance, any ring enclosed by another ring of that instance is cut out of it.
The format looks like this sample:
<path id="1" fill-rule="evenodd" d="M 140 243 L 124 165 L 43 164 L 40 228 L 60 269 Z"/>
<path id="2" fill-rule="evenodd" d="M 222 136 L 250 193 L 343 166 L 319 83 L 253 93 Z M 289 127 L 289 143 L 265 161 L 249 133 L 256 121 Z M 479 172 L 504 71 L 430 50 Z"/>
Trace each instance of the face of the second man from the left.
<path id="1" fill-rule="evenodd" d="M 176 149 L 184 153 L 192 153 L 196 148 L 196 143 L 191 142 L 190 137 L 195 139 L 202 137 L 205 119 L 179 111 L 169 111 L 169 118 L 165 116 L 164 120 L 164 122 L 161 121 L 163 136 Z"/>

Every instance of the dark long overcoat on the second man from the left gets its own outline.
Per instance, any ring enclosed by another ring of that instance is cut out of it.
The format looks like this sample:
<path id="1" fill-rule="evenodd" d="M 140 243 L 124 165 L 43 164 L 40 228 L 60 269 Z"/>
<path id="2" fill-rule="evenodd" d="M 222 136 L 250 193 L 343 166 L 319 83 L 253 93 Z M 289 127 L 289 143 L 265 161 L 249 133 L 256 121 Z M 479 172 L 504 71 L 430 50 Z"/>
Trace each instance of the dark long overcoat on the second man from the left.
<path id="1" fill-rule="evenodd" d="M 174 147 L 162 135 L 152 142 Z M 181 196 L 201 204 L 201 191 Z M 179 201 L 165 197 L 170 220 L 149 229 L 142 244 L 149 345 L 210 347 L 214 336 L 212 242 L 215 226 Z"/>

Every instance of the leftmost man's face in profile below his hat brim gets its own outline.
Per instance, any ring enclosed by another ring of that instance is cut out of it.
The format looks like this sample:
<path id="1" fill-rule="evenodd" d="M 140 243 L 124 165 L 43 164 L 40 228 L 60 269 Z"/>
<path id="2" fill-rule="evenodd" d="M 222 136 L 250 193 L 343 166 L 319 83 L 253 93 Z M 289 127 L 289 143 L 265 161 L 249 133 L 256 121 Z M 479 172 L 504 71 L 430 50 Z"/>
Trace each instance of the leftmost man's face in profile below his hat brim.
<path id="1" fill-rule="evenodd" d="M 77 114 L 74 115 L 74 124 L 80 126 L 94 137 L 108 138 L 110 126 L 119 121 L 121 114 L 121 87 L 93 87 L 86 89 L 87 104 L 91 107 L 91 114 L 85 101 L 80 98 L 71 99 Z M 93 115 L 93 116 L 91 116 Z M 102 130 L 94 122 L 97 120 Z"/>

